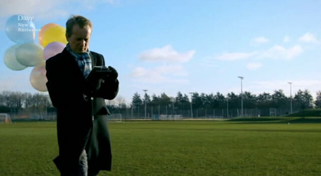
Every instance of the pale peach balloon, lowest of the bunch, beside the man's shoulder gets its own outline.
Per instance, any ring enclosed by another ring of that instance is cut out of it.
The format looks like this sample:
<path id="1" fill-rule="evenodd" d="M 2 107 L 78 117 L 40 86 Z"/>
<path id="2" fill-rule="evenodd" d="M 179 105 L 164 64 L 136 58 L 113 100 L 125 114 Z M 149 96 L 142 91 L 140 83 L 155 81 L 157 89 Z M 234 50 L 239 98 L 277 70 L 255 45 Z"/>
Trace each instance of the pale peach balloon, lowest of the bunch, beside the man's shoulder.
<path id="1" fill-rule="evenodd" d="M 46 86 L 46 82 L 48 81 L 46 72 L 45 61 L 37 64 L 31 71 L 30 83 L 38 91 L 48 91 Z"/>

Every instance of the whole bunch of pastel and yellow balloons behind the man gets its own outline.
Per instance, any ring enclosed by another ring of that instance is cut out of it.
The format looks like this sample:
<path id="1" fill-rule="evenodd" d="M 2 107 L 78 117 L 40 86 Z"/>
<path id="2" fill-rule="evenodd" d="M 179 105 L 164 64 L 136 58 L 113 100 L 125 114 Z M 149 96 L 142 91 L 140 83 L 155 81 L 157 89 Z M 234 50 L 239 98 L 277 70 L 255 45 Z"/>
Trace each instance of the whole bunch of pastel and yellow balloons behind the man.
<path id="1" fill-rule="evenodd" d="M 38 91 L 48 91 L 46 60 L 65 48 L 66 29 L 55 23 L 44 25 L 38 33 L 38 44 L 33 20 L 34 17 L 22 14 L 8 18 L 6 34 L 15 44 L 5 51 L 4 60 L 7 67 L 13 70 L 34 66 L 30 74 L 31 85 Z"/>

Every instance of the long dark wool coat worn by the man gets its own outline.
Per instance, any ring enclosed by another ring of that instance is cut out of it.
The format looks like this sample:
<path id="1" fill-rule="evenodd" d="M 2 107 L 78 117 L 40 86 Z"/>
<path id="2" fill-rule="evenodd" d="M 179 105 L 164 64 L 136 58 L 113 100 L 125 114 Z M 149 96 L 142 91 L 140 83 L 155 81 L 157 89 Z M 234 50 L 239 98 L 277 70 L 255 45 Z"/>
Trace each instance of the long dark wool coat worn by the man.
<path id="1" fill-rule="evenodd" d="M 92 66 L 105 65 L 103 55 L 90 51 Z M 57 108 L 59 155 L 54 159 L 59 170 L 79 163 L 85 148 L 89 170 L 111 170 L 111 144 L 106 115 L 106 99 L 118 92 L 118 80 L 95 85 L 95 97 L 84 96 L 88 85 L 75 58 L 66 50 L 46 61 L 47 88 Z M 101 98 L 104 97 L 104 98 Z"/>

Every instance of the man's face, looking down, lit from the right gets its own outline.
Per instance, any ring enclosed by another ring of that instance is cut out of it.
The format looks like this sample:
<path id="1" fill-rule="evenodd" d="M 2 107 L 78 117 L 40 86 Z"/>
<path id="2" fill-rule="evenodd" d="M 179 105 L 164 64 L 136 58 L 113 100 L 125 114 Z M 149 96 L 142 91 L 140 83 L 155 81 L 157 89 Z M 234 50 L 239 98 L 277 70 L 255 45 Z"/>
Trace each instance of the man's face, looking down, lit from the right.
<path id="1" fill-rule="evenodd" d="M 67 36 L 66 34 L 71 50 L 76 53 L 86 52 L 89 47 L 90 35 L 91 28 L 89 25 L 81 28 L 78 24 L 75 24 L 72 27 L 71 36 Z"/>

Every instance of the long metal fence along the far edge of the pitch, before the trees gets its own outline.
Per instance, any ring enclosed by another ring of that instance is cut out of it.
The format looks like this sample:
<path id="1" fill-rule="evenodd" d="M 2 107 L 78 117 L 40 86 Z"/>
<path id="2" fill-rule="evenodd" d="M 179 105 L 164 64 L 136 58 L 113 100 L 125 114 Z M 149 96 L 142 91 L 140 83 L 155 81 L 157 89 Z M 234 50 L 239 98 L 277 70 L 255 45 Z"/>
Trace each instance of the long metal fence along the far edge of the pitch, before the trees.
<path id="1" fill-rule="evenodd" d="M 109 108 L 113 114 L 121 114 L 121 119 L 186 119 L 186 118 L 234 118 L 240 116 L 283 116 L 289 114 L 285 108 L 198 108 L 198 109 L 173 109 L 162 106 L 147 106 L 146 115 L 143 108 Z M 293 111 L 296 112 L 296 111 Z M 9 113 L 13 120 L 56 120 L 57 112 L 46 109 L 21 109 Z"/>

